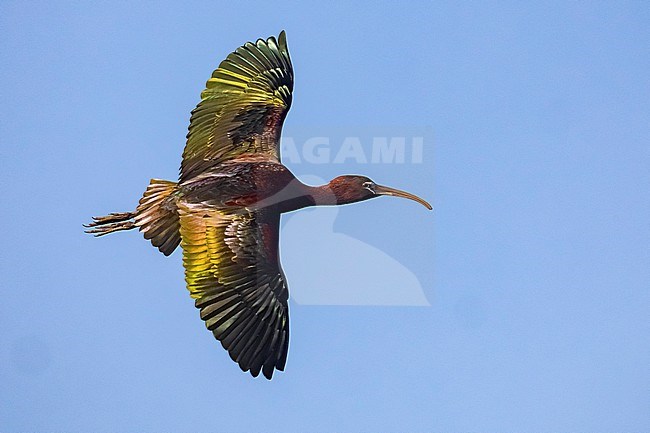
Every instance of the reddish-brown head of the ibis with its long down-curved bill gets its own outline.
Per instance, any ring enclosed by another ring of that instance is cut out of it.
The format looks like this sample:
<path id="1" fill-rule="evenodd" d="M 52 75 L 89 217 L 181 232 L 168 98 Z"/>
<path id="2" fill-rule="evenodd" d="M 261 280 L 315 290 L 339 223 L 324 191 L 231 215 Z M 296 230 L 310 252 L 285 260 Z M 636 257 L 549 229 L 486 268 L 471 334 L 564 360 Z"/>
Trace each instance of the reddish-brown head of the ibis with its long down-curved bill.
<path id="1" fill-rule="evenodd" d="M 339 176 L 332 179 L 329 182 L 328 187 L 336 197 L 337 204 L 356 203 L 358 201 L 368 200 L 381 195 L 390 195 L 394 197 L 408 198 L 420 203 L 429 210 L 433 209 L 429 203 L 417 195 L 388 186 L 378 185 L 366 176 Z"/>

